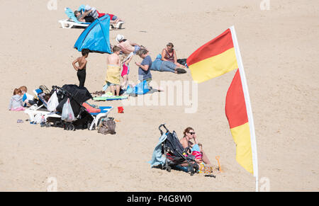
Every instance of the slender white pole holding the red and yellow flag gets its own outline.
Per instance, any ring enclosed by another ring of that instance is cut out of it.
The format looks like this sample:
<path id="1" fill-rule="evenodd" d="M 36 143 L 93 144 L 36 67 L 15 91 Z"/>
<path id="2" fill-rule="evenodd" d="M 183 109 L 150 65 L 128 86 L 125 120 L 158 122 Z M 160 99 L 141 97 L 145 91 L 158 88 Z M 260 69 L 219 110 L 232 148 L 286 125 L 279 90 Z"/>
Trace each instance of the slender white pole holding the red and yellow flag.
<path id="1" fill-rule="evenodd" d="M 242 90 L 244 91 L 244 96 L 245 96 L 248 122 L 250 125 L 250 142 L 252 144 L 252 165 L 253 165 L 253 169 L 254 169 L 254 177 L 256 178 L 256 192 L 258 192 L 257 144 L 256 144 L 256 135 L 254 133 L 254 119 L 252 118 L 252 106 L 250 105 L 250 94 L 248 93 L 247 80 L 246 80 L 244 66 L 242 64 L 242 55 L 240 55 L 240 49 L 238 46 L 235 27 L 231 26 L 230 31 L 232 33 L 238 69 L 240 70 L 240 79 L 242 80 Z"/>

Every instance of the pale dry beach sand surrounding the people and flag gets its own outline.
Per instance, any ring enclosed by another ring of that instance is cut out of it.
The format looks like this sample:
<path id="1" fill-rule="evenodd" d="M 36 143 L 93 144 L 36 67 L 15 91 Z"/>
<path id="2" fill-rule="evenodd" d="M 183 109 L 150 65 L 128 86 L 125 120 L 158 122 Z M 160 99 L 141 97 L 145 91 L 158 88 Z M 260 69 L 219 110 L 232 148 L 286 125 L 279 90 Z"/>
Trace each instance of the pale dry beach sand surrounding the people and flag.
<path id="1" fill-rule="evenodd" d="M 47 0 L 48 1 L 48 0 Z M 198 85 L 198 110 L 185 106 L 124 106 L 110 116 L 121 122 L 116 135 L 97 131 L 69 132 L 41 128 L 23 112 L 8 110 L 13 88 L 45 84 L 78 84 L 72 60 L 81 28 L 62 29 L 65 7 L 78 1 L 1 1 L 0 190 L 45 191 L 47 178 L 59 191 L 254 191 L 254 177 L 235 161 L 235 144 L 225 117 L 225 95 L 235 71 Z M 259 178 L 269 178 L 271 191 L 318 191 L 318 1 L 273 1 L 262 11 L 254 1 L 86 1 L 99 11 L 125 20 L 112 30 L 145 45 L 152 59 L 167 42 L 186 58 L 205 42 L 235 25 L 250 91 L 257 136 Z M 90 54 L 86 87 L 99 91 L 106 74 L 106 55 Z M 135 61 L 140 62 L 139 57 Z M 138 68 L 132 63 L 130 80 Z M 153 80 L 191 81 L 191 74 L 152 72 Z M 30 91 L 31 92 L 31 91 Z M 30 93 L 29 92 L 29 93 Z M 153 95 L 156 95 L 154 93 Z M 150 96 L 148 94 L 147 96 Z M 121 101 L 99 105 L 122 105 Z M 151 169 L 147 161 L 165 122 L 181 137 L 196 130 L 204 150 L 225 173 L 215 178 Z M 317 125 L 317 126 L 315 126 Z M 262 183 L 260 184 L 262 186 Z"/>

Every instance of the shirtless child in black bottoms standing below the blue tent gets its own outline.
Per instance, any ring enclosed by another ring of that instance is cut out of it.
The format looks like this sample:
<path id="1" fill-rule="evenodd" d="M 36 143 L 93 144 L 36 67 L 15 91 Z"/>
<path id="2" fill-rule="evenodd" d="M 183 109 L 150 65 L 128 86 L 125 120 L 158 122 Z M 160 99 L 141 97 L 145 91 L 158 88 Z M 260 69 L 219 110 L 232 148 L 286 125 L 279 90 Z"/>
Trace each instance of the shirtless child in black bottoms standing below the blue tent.
<path id="1" fill-rule="evenodd" d="M 86 58 L 89 57 L 89 50 L 83 49 L 82 50 L 82 57 L 79 57 L 72 62 L 74 69 L 77 71 L 77 78 L 79 79 L 79 87 L 83 87 L 86 78 Z M 79 66 L 75 65 L 76 63 Z"/>

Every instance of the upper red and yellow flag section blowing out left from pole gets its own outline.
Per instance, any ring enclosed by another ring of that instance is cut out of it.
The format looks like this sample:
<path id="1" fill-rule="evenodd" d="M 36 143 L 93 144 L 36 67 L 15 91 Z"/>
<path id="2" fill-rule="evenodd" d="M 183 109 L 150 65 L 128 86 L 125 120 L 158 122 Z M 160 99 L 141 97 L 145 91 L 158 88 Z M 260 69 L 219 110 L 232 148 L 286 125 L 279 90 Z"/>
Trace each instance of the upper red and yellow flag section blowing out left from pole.
<path id="1" fill-rule="evenodd" d="M 230 29 L 201 46 L 189 58 L 187 65 L 193 80 L 201 83 L 238 68 Z"/>

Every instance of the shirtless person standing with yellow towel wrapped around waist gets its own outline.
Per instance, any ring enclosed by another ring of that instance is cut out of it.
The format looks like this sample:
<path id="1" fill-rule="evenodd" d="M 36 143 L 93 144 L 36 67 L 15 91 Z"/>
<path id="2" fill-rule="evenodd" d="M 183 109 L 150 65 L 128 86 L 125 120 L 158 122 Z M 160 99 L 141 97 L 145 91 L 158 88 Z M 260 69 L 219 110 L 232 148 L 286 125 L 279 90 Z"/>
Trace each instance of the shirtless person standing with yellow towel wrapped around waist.
<path id="1" fill-rule="evenodd" d="M 110 86 L 113 96 L 120 96 L 120 81 L 121 81 L 121 62 L 120 62 L 121 48 L 113 47 L 113 54 L 107 57 L 108 68 L 106 70 L 106 84 Z"/>

